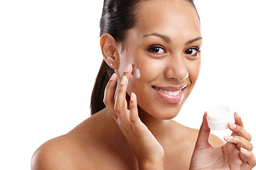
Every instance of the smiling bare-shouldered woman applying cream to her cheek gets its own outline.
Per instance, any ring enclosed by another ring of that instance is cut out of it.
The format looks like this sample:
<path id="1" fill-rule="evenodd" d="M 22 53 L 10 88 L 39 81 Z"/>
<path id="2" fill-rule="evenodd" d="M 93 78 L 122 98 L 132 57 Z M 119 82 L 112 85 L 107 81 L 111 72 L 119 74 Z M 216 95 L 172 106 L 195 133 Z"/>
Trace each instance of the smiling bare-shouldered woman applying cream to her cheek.
<path id="1" fill-rule="evenodd" d="M 207 113 L 200 130 L 172 120 L 201 64 L 201 26 L 192 0 L 105 0 L 100 28 L 104 61 L 92 91 L 92 116 L 39 147 L 31 169 L 255 166 L 251 136 L 237 113 L 225 145 L 210 135 Z"/>

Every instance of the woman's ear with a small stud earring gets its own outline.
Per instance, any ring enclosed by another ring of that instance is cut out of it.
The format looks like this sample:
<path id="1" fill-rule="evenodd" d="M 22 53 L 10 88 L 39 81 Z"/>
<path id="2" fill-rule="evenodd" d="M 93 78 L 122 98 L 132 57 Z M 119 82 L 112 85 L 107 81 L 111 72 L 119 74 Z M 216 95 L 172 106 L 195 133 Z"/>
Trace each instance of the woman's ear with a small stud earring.
<path id="1" fill-rule="evenodd" d="M 105 62 L 112 68 L 118 67 L 117 42 L 108 33 L 104 33 L 100 38 L 100 47 Z"/>

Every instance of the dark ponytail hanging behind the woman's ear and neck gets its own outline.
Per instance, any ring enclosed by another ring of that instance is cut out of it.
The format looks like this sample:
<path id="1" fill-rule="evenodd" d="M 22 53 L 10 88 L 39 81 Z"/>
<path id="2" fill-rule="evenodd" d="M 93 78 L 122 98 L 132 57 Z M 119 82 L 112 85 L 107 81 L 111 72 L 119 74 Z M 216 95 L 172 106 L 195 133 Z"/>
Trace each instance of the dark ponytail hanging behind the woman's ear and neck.
<path id="1" fill-rule="evenodd" d="M 105 60 L 102 61 L 100 66 L 100 71 L 97 74 L 97 78 L 95 81 L 95 86 L 92 90 L 90 108 L 91 115 L 101 111 L 105 108 L 105 104 L 103 103 L 105 86 L 107 86 L 107 82 L 110 80 L 110 77 L 114 73 L 114 69 L 110 68 Z"/>

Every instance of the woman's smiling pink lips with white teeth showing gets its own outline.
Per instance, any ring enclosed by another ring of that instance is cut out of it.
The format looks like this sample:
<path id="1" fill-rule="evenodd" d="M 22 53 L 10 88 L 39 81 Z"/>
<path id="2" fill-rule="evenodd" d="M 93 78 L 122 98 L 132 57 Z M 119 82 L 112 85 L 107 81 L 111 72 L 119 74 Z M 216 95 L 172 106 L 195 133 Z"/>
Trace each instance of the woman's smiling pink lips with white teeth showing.
<path id="1" fill-rule="evenodd" d="M 180 103 L 186 86 L 153 86 L 156 94 L 166 103 Z"/>

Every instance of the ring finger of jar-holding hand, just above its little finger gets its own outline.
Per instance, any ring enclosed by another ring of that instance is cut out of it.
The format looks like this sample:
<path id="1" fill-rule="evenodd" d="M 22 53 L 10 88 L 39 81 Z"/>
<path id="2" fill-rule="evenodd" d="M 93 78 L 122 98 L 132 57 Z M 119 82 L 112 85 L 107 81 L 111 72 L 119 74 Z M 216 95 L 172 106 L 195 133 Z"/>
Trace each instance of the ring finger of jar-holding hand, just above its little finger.
<path id="1" fill-rule="evenodd" d="M 238 146 L 238 149 L 240 149 L 242 147 L 244 149 L 252 151 L 252 148 L 253 148 L 252 143 L 249 142 L 248 140 L 246 140 L 243 137 L 227 136 L 227 137 L 224 137 L 224 140 L 226 142 L 230 142 L 230 143 L 236 144 Z"/>

